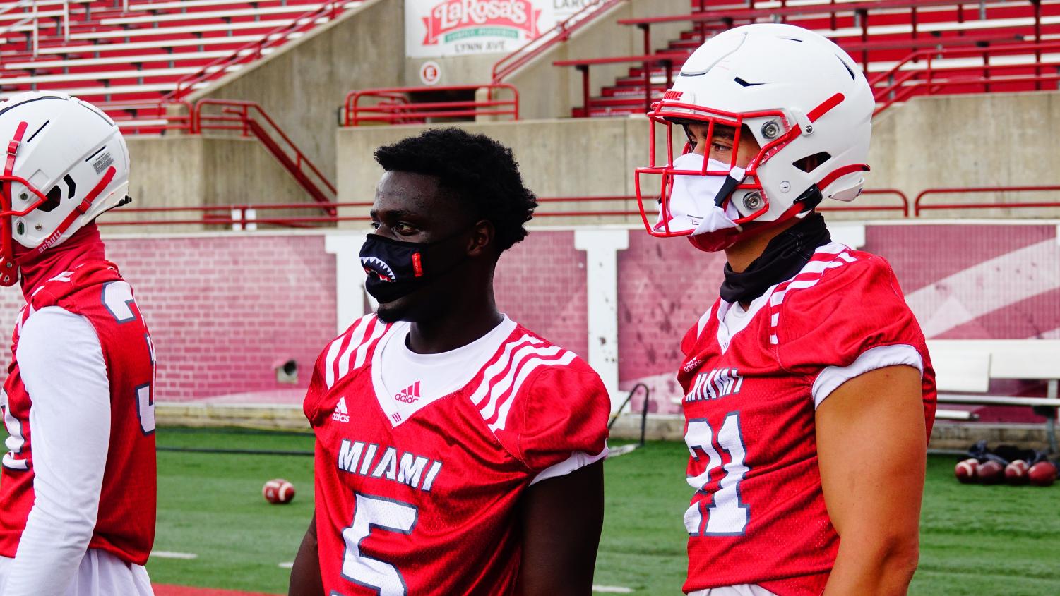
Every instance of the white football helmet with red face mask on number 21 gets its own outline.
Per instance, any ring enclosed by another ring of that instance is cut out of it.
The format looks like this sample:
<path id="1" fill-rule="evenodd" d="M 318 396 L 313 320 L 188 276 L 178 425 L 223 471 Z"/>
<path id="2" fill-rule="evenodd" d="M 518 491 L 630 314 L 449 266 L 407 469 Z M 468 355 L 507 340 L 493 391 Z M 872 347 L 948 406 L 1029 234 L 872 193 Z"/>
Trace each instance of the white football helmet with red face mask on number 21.
<path id="1" fill-rule="evenodd" d="M 653 236 L 690 236 L 697 248 L 714 251 L 765 222 L 805 216 L 822 198 L 853 200 L 868 170 L 874 105 L 853 59 L 812 31 L 761 23 L 712 37 L 648 113 L 649 166 L 636 170 L 644 227 Z M 706 126 L 708 156 L 716 126 L 735 130 L 736 146 L 741 131 L 749 131 L 760 150 L 741 168 L 737 151 L 730 163 L 688 155 L 694 148 L 689 136 L 675 158 L 693 123 Z M 674 125 L 685 128 L 678 139 Z M 656 200 L 658 219 L 651 222 Z M 756 223 L 744 225 L 749 222 Z"/>

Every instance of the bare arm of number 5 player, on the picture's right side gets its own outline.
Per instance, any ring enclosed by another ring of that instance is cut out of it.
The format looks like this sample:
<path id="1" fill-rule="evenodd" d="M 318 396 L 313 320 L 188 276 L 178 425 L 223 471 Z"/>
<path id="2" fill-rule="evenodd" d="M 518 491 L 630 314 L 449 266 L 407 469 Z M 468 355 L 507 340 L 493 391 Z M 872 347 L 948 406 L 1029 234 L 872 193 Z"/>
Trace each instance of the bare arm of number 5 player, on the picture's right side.
<path id="1" fill-rule="evenodd" d="M 519 518 L 519 594 L 590 594 L 603 525 L 603 462 L 532 485 Z"/>

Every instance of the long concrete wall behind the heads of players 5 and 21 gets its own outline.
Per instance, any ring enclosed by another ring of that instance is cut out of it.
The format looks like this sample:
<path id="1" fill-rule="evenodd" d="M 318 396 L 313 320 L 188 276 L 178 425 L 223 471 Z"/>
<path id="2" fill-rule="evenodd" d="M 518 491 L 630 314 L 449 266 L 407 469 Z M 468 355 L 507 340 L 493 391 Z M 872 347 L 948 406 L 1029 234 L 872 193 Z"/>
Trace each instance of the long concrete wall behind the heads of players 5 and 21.
<path id="1" fill-rule="evenodd" d="M 918 97 L 889 108 L 873 130 L 868 188 L 897 188 L 912 202 L 925 188 L 1060 184 L 1048 164 L 1060 155 L 1060 138 L 1044 132 L 1060 122 L 1060 93 Z M 444 126 L 444 125 L 442 125 Z M 337 132 L 338 189 L 344 201 L 370 200 L 382 169 L 371 159 L 379 145 L 417 134 L 424 126 L 354 127 Z M 634 169 L 648 161 L 644 119 L 559 119 L 467 123 L 461 128 L 510 146 L 523 176 L 541 197 L 632 196 Z M 939 201 L 1056 201 L 1060 194 L 1014 193 L 938 197 Z M 855 205 L 895 205 L 894 196 L 865 195 Z M 823 206 L 843 206 L 829 201 Z M 553 204 L 538 211 L 636 211 L 635 201 Z M 363 214 L 366 210 L 360 210 Z M 864 213 L 828 214 L 833 220 L 866 219 Z M 874 212 L 869 218 L 899 217 Z M 1058 217 L 1060 209 L 928 212 L 928 217 Z M 535 223 L 631 222 L 639 217 L 564 219 L 540 217 Z"/>

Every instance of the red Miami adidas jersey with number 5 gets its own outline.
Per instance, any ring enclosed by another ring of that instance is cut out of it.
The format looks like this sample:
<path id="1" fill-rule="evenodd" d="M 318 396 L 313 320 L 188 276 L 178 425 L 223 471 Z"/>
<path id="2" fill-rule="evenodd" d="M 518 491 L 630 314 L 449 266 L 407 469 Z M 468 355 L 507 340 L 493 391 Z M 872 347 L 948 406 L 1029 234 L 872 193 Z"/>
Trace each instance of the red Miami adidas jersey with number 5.
<path id="1" fill-rule="evenodd" d="M 354 323 L 305 397 L 324 592 L 512 594 L 519 499 L 605 455 L 610 397 L 573 353 L 508 319 L 445 355 L 409 353 L 409 326 Z"/>

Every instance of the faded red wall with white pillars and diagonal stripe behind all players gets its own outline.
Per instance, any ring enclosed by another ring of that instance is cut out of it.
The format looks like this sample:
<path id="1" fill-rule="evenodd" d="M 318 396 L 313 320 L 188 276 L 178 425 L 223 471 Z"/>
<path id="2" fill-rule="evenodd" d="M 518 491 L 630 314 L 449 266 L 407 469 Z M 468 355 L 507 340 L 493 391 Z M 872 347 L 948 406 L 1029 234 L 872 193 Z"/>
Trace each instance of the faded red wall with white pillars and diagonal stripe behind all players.
<path id="1" fill-rule="evenodd" d="M 343 283 L 364 277 L 360 234 L 332 236 L 344 241 L 324 233 L 107 238 L 152 329 L 158 399 L 273 392 L 297 402 L 338 319 L 349 324 L 365 308 L 359 292 L 343 299 L 350 304 L 337 299 Z M 344 248 L 336 255 L 329 245 Z M 862 248 L 890 261 L 930 339 L 1060 339 L 1056 223 L 869 224 Z M 723 265 L 722 255 L 639 229 L 532 231 L 500 260 L 497 302 L 586 358 L 616 392 L 646 382 L 651 411 L 678 413 L 678 341 L 717 296 Z M 3 333 L 20 306 L 17 287 L 0 291 Z M 287 360 L 299 364 L 295 385 L 277 380 Z"/>

